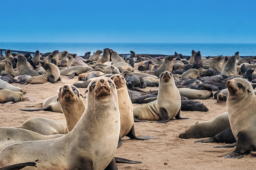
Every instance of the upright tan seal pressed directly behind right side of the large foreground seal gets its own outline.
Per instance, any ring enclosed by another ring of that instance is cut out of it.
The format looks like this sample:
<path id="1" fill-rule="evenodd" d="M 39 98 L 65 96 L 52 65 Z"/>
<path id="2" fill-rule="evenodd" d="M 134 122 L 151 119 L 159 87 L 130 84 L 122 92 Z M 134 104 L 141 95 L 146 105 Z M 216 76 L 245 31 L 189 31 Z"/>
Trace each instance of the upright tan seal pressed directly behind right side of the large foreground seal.
<path id="1" fill-rule="evenodd" d="M 128 94 L 125 78 L 120 74 L 114 74 L 110 77 L 117 86 L 118 108 L 120 112 L 120 134 L 119 137 L 128 136 L 131 139 L 144 140 L 152 139 L 152 136 L 137 137 L 134 130 L 134 115 L 132 111 L 132 103 Z"/>

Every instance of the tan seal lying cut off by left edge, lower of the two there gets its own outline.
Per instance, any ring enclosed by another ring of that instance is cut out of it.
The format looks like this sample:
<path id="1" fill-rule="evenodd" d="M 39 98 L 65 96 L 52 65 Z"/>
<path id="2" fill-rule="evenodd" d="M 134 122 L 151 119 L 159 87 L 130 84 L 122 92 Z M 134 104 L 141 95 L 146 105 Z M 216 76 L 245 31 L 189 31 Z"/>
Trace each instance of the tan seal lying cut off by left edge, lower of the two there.
<path id="1" fill-rule="evenodd" d="M 0 103 L 6 102 L 21 102 L 23 100 L 23 94 L 8 89 L 0 89 Z"/>

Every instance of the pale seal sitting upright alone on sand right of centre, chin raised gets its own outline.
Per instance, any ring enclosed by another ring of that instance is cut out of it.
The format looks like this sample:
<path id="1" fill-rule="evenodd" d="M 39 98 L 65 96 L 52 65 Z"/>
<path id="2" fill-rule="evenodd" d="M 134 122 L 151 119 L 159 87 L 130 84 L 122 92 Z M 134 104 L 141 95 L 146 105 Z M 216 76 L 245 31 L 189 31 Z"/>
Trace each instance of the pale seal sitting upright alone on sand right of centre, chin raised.
<path id="1" fill-rule="evenodd" d="M 170 101 L 172 99 L 172 101 Z M 164 71 L 160 74 L 157 100 L 133 109 L 134 119 L 157 120 L 157 123 L 168 122 L 180 117 L 181 99 L 172 73 Z"/>

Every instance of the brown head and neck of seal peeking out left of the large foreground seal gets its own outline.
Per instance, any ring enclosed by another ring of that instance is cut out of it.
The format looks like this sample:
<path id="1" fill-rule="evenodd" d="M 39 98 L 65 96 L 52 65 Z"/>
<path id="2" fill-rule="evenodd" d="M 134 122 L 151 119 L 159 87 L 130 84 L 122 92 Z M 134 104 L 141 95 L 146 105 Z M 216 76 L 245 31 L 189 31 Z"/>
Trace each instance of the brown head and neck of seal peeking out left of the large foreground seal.
<path id="1" fill-rule="evenodd" d="M 65 84 L 58 92 L 58 101 L 67 122 L 67 132 L 70 132 L 85 111 L 85 105 L 76 86 Z"/>

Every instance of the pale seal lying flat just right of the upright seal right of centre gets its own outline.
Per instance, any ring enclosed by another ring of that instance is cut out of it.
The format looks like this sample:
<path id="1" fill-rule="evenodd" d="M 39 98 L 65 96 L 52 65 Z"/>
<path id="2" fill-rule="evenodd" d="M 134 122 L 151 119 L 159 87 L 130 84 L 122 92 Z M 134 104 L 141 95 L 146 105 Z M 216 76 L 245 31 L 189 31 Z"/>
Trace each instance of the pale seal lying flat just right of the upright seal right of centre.
<path id="1" fill-rule="evenodd" d="M 178 88 L 181 96 L 188 99 L 208 99 L 212 95 L 212 91 L 195 90 L 192 88 Z"/>

